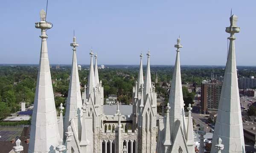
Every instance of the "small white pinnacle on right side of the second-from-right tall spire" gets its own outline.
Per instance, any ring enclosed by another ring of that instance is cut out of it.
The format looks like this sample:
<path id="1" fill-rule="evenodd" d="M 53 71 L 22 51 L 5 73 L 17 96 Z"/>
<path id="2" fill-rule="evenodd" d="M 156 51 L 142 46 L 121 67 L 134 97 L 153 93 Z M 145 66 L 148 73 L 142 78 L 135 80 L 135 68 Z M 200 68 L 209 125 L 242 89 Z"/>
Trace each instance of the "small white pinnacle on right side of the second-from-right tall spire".
<path id="1" fill-rule="evenodd" d="M 188 117 L 188 124 L 187 124 L 187 131 L 186 131 L 186 140 L 187 145 L 194 145 L 194 131 L 193 131 L 193 121 L 191 116 L 191 104 L 189 104 L 189 107 L 187 108 L 189 110 L 189 117 Z"/>

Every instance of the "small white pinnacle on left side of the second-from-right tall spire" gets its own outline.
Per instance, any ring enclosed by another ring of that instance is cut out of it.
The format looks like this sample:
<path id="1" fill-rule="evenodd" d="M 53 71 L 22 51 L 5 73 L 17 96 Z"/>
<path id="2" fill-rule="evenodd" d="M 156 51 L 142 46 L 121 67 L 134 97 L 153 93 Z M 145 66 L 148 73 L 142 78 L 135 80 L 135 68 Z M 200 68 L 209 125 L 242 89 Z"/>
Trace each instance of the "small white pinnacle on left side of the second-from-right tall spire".
<path id="1" fill-rule="evenodd" d="M 165 147 L 165 153 L 167 153 L 168 147 L 172 145 L 172 140 L 171 140 L 171 129 L 170 129 L 170 116 L 169 112 L 171 107 L 169 106 L 169 103 L 167 103 L 166 107 L 166 126 L 165 126 L 165 133 L 164 133 L 164 139 L 163 139 L 163 145 Z"/>

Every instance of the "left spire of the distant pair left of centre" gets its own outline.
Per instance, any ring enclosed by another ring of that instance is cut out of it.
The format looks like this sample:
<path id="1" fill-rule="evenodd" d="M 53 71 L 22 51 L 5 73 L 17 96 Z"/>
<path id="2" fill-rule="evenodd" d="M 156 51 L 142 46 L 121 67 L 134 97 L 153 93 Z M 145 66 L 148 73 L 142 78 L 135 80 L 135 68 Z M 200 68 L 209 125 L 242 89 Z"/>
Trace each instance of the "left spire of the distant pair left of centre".
<path id="1" fill-rule="evenodd" d="M 93 50 L 90 52 L 91 62 L 90 62 L 90 71 L 87 82 L 87 93 L 86 97 L 89 98 L 90 94 L 93 93 L 93 88 L 95 87 L 95 76 L 93 71 Z"/>

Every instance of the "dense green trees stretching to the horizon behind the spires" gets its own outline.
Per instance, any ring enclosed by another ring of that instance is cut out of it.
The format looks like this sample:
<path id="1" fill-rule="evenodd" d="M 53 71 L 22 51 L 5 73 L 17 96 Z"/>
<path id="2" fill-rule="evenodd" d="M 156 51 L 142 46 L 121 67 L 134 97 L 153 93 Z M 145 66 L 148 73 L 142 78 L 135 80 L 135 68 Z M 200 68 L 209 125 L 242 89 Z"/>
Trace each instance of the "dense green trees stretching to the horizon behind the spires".
<path id="1" fill-rule="evenodd" d="M 84 68 L 79 71 L 79 79 L 81 82 L 81 92 L 84 85 L 87 84 L 89 74 L 89 66 L 82 65 Z M 145 76 L 145 66 L 143 66 Z M 249 77 L 256 76 L 255 67 L 238 67 L 239 76 Z M 151 80 L 155 82 L 156 73 L 158 82 L 168 82 L 172 80 L 173 66 L 154 66 L 151 65 Z M 70 65 L 62 65 L 60 69 L 51 68 L 53 91 L 60 92 L 63 97 L 55 97 L 55 106 L 64 103 L 67 99 Z M 133 86 L 138 77 L 138 65 L 111 65 L 109 68 L 99 69 L 99 79 L 102 80 L 104 86 L 105 98 L 109 94 L 116 94 L 118 100 L 129 104 L 132 98 Z M 224 76 L 224 67 L 221 66 L 182 66 L 181 77 L 183 83 L 194 83 L 201 85 L 201 81 L 207 77 L 211 77 L 214 72 L 217 76 Z M 35 98 L 35 86 L 37 80 L 38 65 L 2 65 L 0 66 L 0 119 L 10 113 L 20 110 L 20 102 L 33 104 Z M 162 94 L 165 101 L 168 102 L 167 90 L 155 85 L 158 94 Z M 186 106 L 193 99 L 194 93 L 187 93 L 183 90 L 183 99 Z"/>

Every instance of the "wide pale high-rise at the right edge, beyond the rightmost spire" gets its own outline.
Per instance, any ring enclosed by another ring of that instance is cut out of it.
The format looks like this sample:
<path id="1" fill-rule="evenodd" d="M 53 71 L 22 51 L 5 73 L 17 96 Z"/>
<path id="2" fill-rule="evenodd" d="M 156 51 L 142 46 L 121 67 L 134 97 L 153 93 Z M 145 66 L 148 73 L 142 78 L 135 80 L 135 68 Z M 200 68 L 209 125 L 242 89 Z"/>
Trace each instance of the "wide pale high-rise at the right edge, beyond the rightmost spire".
<path id="1" fill-rule="evenodd" d="M 250 77 L 239 77 L 239 89 L 256 88 L 256 78 Z"/>

